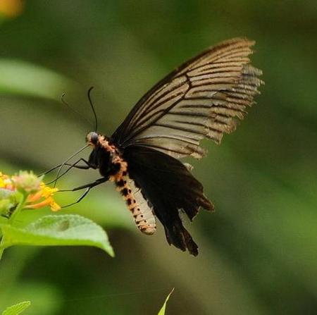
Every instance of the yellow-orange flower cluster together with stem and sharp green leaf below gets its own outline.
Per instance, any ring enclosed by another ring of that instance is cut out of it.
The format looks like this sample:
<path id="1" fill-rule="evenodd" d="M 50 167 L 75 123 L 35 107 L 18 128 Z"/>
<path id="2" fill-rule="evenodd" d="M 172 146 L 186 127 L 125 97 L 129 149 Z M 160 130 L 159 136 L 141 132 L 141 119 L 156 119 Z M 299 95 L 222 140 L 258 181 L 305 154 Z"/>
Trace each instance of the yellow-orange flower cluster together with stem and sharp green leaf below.
<path id="1" fill-rule="evenodd" d="M 75 214 L 42 216 L 26 226 L 20 226 L 17 216 L 25 209 L 50 206 L 61 210 L 53 198 L 57 188 L 44 185 L 34 173 L 20 171 L 9 176 L 0 172 L 0 214 L 7 220 L 1 223 L 0 258 L 4 249 L 13 245 L 70 246 L 85 245 L 103 249 L 111 257 L 113 249 L 105 231 L 93 221 Z M 18 194 L 19 197 L 12 196 Z"/>

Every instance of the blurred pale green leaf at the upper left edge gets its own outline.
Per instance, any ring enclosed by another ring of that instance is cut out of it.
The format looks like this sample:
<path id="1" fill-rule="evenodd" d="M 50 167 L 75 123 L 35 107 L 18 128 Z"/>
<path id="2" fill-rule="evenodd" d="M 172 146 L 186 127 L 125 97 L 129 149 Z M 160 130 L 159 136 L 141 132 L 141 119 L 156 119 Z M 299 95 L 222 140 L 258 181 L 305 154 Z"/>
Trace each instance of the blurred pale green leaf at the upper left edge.
<path id="1" fill-rule="evenodd" d="M 25 61 L 0 59 L 0 94 L 58 99 L 75 84 L 53 70 Z"/>

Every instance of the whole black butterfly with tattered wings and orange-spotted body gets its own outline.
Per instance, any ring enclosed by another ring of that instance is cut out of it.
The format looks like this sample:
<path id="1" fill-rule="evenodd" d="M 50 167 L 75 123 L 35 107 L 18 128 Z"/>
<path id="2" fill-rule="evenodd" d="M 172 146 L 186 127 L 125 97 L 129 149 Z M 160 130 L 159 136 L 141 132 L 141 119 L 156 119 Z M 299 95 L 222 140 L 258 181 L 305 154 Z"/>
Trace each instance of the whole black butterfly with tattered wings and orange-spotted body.
<path id="1" fill-rule="evenodd" d="M 201 139 L 219 144 L 224 133 L 235 130 L 236 118 L 244 118 L 263 83 L 261 70 L 249 64 L 253 45 L 230 39 L 207 49 L 152 87 L 111 137 L 89 132 L 89 160 L 72 166 L 98 168 L 102 177 L 73 190 L 86 188 L 84 197 L 92 187 L 113 181 L 139 230 L 153 234 L 157 217 L 170 245 L 197 256 L 180 211 L 192 221 L 200 207 L 212 211 L 213 204 L 178 159 L 200 159 L 206 154 Z"/>

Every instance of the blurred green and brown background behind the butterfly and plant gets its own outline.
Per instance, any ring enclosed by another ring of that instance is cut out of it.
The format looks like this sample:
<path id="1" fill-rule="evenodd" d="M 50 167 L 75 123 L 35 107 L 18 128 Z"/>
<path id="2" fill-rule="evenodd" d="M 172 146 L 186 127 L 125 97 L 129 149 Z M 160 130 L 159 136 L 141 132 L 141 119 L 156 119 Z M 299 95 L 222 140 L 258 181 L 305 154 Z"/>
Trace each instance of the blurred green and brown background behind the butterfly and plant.
<path id="1" fill-rule="evenodd" d="M 216 205 L 189 226 L 199 257 L 169 247 L 161 228 L 139 233 L 108 183 L 65 212 L 104 226 L 116 258 L 87 247 L 8 249 L 0 309 L 30 299 L 25 314 L 157 314 L 175 287 L 168 314 L 316 314 L 316 0 L 0 0 L 0 11 L 4 173 L 44 171 L 85 144 L 92 125 L 61 104 L 63 92 L 92 121 L 93 85 L 99 130 L 111 135 L 163 75 L 231 37 L 256 40 L 252 60 L 266 82 L 237 131 L 190 161 Z M 58 187 L 97 176 L 72 171 Z"/>

